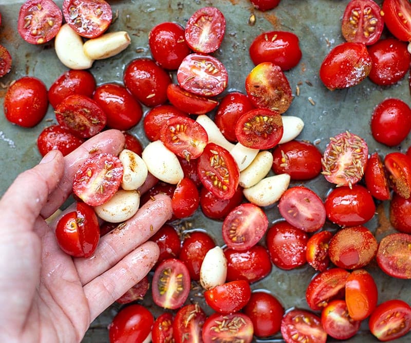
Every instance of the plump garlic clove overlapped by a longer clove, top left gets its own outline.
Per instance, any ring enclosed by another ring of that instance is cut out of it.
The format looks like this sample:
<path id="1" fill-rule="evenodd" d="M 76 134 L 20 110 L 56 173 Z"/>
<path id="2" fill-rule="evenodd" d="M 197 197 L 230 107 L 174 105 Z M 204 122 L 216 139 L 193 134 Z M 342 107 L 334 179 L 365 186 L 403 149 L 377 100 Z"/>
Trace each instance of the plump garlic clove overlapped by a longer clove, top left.
<path id="1" fill-rule="evenodd" d="M 54 39 L 57 57 L 70 69 L 91 68 L 94 60 L 85 55 L 83 39 L 68 24 L 61 26 Z"/>

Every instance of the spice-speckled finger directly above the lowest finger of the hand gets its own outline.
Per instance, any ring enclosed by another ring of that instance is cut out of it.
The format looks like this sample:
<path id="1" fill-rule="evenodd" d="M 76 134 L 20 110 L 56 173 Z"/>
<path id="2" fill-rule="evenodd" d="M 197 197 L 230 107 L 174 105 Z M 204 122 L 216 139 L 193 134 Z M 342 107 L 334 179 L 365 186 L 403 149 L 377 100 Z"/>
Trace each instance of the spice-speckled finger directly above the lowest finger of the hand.
<path id="1" fill-rule="evenodd" d="M 171 218 L 171 198 L 157 194 L 154 199 L 145 203 L 124 225 L 105 234 L 93 256 L 74 259 L 83 285 L 114 266 Z"/>

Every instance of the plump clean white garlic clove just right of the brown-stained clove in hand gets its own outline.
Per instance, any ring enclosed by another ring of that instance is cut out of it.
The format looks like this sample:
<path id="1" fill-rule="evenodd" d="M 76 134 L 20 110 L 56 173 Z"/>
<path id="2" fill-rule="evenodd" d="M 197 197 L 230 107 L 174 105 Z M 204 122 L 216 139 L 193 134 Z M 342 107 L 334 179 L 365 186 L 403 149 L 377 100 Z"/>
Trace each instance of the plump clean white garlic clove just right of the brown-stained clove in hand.
<path id="1" fill-rule="evenodd" d="M 149 143 L 141 156 L 147 169 L 159 180 L 176 185 L 184 177 L 177 156 L 167 149 L 161 140 Z"/>

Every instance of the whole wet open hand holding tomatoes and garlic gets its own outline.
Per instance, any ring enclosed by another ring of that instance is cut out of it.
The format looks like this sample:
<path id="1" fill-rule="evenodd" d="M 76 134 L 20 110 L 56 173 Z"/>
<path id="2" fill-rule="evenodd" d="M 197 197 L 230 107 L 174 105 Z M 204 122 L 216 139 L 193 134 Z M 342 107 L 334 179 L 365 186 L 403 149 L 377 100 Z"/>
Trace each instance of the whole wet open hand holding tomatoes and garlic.
<path id="1" fill-rule="evenodd" d="M 73 175 L 90 151 L 118 154 L 123 146 L 123 134 L 108 130 L 66 157 L 51 151 L 0 200 L 0 341 L 80 341 L 91 321 L 157 261 L 158 246 L 146 241 L 171 218 L 165 195 L 103 236 L 88 259 L 65 254 L 55 225 L 44 220 L 69 196 Z"/>

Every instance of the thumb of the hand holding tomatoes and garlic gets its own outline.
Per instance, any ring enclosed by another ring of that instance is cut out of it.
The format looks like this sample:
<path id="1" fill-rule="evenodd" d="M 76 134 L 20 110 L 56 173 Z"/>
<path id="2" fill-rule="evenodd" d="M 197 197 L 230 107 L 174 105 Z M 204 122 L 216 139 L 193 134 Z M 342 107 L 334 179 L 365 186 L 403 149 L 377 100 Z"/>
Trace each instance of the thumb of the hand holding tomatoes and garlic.
<path id="1" fill-rule="evenodd" d="M 49 194 L 61 180 L 63 167 L 61 152 L 51 150 L 39 165 L 18 175 L 0 201 L 1 227 L 31 230 Z"/>

